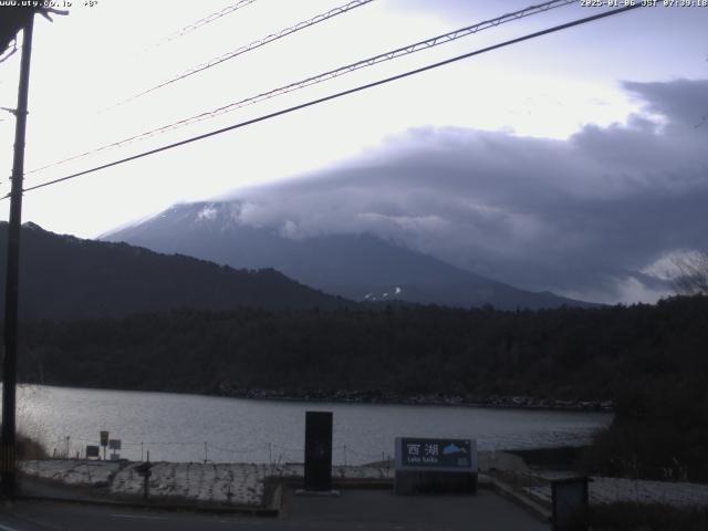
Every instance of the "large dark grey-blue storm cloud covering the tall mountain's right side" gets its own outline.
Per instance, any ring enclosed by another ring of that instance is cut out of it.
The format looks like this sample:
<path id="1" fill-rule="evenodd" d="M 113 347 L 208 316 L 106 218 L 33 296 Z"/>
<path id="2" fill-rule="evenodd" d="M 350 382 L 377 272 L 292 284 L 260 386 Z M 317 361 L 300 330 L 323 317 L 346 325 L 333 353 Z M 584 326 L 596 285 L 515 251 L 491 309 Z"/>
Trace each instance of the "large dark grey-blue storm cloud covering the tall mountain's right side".
<path id="1" fill-rule="evenodd" d="M 568 140 L 414 129 L 347 167 L 243 192 L 240 220 L 291 238 L 372 232 L 529 289 L 656 298 L 665 287 L 642 270 L 708 247 L 708 124 L 696 127 L 708 82 L 625 86 L 646 110 L 626 125 Z"/>

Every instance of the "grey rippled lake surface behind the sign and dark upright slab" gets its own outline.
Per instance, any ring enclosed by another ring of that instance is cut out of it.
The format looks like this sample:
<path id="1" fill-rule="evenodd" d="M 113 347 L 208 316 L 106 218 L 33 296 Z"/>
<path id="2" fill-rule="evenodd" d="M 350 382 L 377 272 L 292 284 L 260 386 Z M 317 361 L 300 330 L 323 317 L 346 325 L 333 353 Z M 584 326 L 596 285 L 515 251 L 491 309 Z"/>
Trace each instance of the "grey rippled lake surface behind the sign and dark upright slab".
<path id="1" fill-rule="evenodd" d="M 121 457 L 166 461 L 303 461 L 306 410 L 334 413 L 335 464 L 393 455 L 394 438 L 470 437 L 480 449 L 580 445 L 606 426 L 606 413 L 250 400 L 171 393 L 23 385 L 18 427 L 82 457 L 108 430 Z M 206 445 L 205 445 L 206 444 Z M 205 456 L 206 450 L 206 456 Z"/>

